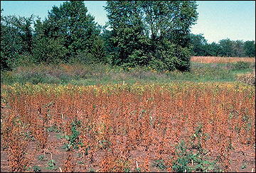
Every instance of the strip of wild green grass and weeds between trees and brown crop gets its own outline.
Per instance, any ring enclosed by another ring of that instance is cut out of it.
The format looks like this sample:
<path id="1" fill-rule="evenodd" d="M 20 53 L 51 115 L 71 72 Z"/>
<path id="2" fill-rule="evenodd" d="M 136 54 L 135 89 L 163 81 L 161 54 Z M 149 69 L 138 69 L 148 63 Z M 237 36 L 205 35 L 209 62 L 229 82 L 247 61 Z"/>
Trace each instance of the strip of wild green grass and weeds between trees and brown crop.
<path id="1" fill-rule="evenodd" d="M 255 62 L 199 63 L 191 62 L 191 72 L 156 72 L 146 67 L 124 71 L 121 67 L 95 64 L 31 65 L 16 67 L 13 71 L 1 72 L 1 84 L 75 84 L 97 85 L 134 84 L 149 82 L 235 82 L 240 74 L 253 72 Z"/>

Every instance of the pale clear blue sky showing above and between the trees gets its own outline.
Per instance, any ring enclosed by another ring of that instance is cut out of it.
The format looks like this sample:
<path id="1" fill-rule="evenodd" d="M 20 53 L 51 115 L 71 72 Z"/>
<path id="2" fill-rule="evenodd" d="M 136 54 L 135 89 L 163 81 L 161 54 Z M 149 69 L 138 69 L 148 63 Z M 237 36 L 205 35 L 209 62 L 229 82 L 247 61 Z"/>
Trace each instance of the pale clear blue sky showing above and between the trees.
<path id="1" fill-rule="evenodd" d="M 1 15 L 31 16 L 33 13 L 46 18 L 52 7 L 64 1 L 1 1 Z M 197 1 L 198 21 L 191 33 L 199 34 L 208 43 L 219 40 L 255 40 L 255 1 Z M 85 1 L 88 12 L 101 26 L 107 21 L 106 1 Z"/>

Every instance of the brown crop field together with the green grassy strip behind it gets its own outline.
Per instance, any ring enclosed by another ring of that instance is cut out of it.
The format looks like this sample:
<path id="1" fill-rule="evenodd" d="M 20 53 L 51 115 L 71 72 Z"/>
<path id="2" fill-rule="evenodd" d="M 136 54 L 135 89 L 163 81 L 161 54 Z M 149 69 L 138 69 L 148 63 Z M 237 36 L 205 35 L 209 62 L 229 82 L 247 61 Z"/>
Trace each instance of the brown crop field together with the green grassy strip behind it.
<path id="1" fill-rule="evenodd" d="M 255 63 L 104 68 L 1 74 L 1 172 L 255 172 Z"/>

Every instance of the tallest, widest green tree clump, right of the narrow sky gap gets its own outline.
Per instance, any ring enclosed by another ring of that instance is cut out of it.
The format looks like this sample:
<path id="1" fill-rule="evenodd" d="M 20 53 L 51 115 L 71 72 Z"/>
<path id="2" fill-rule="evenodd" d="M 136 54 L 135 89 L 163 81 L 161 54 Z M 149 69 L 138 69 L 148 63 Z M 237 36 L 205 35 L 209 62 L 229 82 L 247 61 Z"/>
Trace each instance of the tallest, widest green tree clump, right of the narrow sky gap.
<path id="1" fill-rule="evenodd" d="M 188 70 L 188 35 L 198 17 L 196 6 L 196 1 L 107 1 L 116 48 L 112 62 Z"/>

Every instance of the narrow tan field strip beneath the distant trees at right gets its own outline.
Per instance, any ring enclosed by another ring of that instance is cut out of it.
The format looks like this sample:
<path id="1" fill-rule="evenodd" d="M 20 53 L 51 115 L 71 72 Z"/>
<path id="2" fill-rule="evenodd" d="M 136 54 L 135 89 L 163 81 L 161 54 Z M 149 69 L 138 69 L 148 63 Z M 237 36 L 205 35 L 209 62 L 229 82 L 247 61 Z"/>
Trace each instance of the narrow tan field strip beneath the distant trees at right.
<path id="1" fill-rule="evenodd" d="M 228 62 L 255 62 L 255 57 L 191 57 L 192 62 L 201 63 L 228 63 Z"/>

